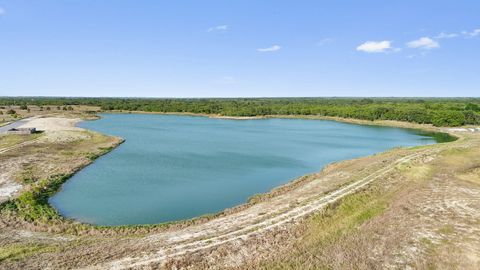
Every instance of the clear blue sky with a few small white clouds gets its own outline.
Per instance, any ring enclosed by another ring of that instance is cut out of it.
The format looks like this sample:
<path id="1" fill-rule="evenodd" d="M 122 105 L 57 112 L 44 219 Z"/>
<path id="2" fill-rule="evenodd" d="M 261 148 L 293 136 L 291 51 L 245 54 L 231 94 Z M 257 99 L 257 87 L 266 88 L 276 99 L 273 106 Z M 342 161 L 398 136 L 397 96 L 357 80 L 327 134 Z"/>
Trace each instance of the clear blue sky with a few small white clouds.
<path id="1" fill-rule="evenodd" d="M 480 1 L 0 0 L 0 96 L 474 96 Z"/>

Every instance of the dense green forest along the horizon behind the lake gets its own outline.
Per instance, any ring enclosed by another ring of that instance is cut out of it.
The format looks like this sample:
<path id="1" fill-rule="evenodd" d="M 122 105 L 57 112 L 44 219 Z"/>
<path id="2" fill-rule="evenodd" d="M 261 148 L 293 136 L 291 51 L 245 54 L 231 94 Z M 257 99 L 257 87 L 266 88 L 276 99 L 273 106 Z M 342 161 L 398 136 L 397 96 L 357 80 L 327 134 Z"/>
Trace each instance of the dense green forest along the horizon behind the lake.
<path id="1" fill-rule="evenodd" d="M 0 105 L 92 105 L 104 111 L 189 112 L 224 116 L 320 115 L 435 126 L 480 124 L 480 98 L 55 98 L 0 97 Z"/>

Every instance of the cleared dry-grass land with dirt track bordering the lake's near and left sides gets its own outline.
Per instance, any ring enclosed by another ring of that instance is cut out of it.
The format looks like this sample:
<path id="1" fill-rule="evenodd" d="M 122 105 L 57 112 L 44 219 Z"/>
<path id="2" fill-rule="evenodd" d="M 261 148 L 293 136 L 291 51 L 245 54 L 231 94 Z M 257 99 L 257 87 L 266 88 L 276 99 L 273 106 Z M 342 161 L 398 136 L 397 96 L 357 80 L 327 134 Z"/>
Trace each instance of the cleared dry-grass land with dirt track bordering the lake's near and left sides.
<path id="1" fill-rule="evenodd" d="M 65 220 L 45 202 L 68 175 L 121 143 L 72 128 L 76 119 L 40 118 L 35 125 L 55 124 L 1 137 L 0 148 L 15 147 L 0 154 L 2 177 L 22 191 L 2 205 L 0 268 L 480 266 L 478 132 L 331 164 L 217 215 L 102 228 Z"/>

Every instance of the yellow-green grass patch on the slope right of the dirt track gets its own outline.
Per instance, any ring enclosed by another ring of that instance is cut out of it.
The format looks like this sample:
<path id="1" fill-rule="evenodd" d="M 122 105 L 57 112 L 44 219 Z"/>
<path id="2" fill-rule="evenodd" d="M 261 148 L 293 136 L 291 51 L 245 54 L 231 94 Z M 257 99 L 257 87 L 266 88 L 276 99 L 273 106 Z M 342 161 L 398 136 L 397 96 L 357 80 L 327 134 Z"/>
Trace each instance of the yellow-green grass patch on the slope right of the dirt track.
<path id="1" fill-rule="evenodd" d="M 385 212 L 391 193 L 383 193 L 377 187 L 349 195 L 329 205 L 324 211 L 307 220 L 302 237 L 294 245 L 295 250 L 284 256 L 261 263 L 261 269 L 331 269 L 322 258 L 322 250 L 328 250 L 345 237 L 354 234 L 369 220 Z M 313 258 L 313 257 L 315 258 Z"/>

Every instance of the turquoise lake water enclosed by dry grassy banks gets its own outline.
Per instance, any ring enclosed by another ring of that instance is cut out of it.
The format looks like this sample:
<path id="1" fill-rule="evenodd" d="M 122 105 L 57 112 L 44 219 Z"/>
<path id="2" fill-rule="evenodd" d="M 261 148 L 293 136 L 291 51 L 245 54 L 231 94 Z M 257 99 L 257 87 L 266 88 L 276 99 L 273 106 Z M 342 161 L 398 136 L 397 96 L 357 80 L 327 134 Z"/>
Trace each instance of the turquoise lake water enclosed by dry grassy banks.
<path id="1" fill-rule="evenodd" d="M 81 127 L 124 144 L 50 199 L 69 218 L 153 224 L 214 213 L 333 161 L 435 143 L 416 131 L 321 120 L 105 114 Z"/>

